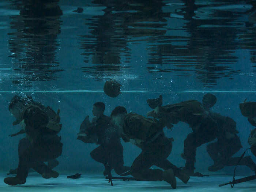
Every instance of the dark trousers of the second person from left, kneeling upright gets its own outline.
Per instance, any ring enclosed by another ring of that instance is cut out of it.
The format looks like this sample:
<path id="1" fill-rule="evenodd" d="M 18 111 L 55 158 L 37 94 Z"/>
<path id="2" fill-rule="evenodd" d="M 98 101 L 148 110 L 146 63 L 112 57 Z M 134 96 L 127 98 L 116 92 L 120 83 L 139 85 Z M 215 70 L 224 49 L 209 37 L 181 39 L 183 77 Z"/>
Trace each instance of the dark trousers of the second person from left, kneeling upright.
<path id="1" fill-rule="evenodd" d="M 103 163 L 104 165 L 108 163 L 110 169 L 114 169 L 118 175 L 130 169 L 130 167 L 124 166 L 123 146 L 121 142 L 112 144 L 112 147 L 100 145 L 91 151 L 90 155 L 97 162 Z"/>

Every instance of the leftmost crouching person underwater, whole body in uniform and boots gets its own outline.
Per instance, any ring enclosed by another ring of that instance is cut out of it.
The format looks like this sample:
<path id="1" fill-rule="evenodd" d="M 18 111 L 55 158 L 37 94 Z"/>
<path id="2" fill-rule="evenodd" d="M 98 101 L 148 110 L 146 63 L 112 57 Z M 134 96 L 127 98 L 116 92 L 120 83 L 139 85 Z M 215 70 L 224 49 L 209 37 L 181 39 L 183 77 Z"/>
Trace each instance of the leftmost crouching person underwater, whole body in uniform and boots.
<path id="1" fill-rule="evenodd" d="M 16 118 L 13 125 L 20 124 L 23 129 L 19 134 L 26 133 L 26 138 L 19 141 L 17 176 L 7 177 L 4 182 L 8 185 L 25 184 L 30 168 L 43 178 L 58 177 L 59 173 L 44 162 L 56 159 L 62 153 L 61 137 L 57 136 L 61 129 L 59 111 L 52 118 L 40 105 L 34 105 L 31 98 L 16 95 L 11 100 L 9 111 Z"/>

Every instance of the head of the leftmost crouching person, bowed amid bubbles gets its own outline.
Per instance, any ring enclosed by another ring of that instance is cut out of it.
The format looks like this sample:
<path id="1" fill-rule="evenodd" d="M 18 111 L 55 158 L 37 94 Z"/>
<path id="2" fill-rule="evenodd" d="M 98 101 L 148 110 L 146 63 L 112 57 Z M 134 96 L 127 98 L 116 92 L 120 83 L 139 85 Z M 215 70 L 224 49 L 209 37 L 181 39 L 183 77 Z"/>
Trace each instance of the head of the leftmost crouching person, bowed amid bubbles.
<path id="1" fill-rule="evenodd" d="M 16 118 L 19 119 L 26 105 L 31 103 L 33 100 L 31 97 L 20 97 L 15 95 L 10 102 L 9 111 Z"/>

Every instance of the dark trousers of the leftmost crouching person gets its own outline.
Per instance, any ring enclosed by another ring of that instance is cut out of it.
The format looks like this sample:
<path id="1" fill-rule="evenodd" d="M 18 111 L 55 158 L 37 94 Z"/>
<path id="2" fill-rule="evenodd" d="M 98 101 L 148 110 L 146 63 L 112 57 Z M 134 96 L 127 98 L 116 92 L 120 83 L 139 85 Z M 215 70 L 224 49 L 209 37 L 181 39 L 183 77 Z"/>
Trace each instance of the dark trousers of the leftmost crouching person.
<path id="1" fill-rule="evenodd" d="M 31 144 L 27 138 L 21 139 L 18 147 L 17 177 L 25 180 L 30 168 L 33 168 L 39 174 L 49 172 L 50 168 L 44 162 L 59 157 L 62 153 L 62 145 L 58 136 L 53 137 L 48 142 L 36 144 Z"/>

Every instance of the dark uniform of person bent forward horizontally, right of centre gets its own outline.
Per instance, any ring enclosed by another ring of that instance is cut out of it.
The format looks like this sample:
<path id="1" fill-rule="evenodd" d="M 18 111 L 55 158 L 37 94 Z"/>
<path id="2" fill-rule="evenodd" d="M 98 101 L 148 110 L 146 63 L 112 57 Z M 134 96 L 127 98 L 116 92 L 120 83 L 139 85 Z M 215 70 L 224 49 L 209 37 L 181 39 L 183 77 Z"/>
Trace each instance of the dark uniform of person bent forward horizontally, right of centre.
<path id="1" fill-rule="evenodd" d="M 154 116 L 154 114 L 153 114 Z M 159 108 L 155 114 L 165 125 L 177 124 L 179 121 L 189 124 L 193 132 L 189 133 L 184 141 L 185 168 L 194 170 L 196 148 L 208 143 L 217 137 L 217 127 L 212 127 L 214 120 L 207 118 L 202 103 L 196 100 L 189 100 L 173 105 L 166 105 Z M 211 124 L 209 122 L 211 121 Z"/>

